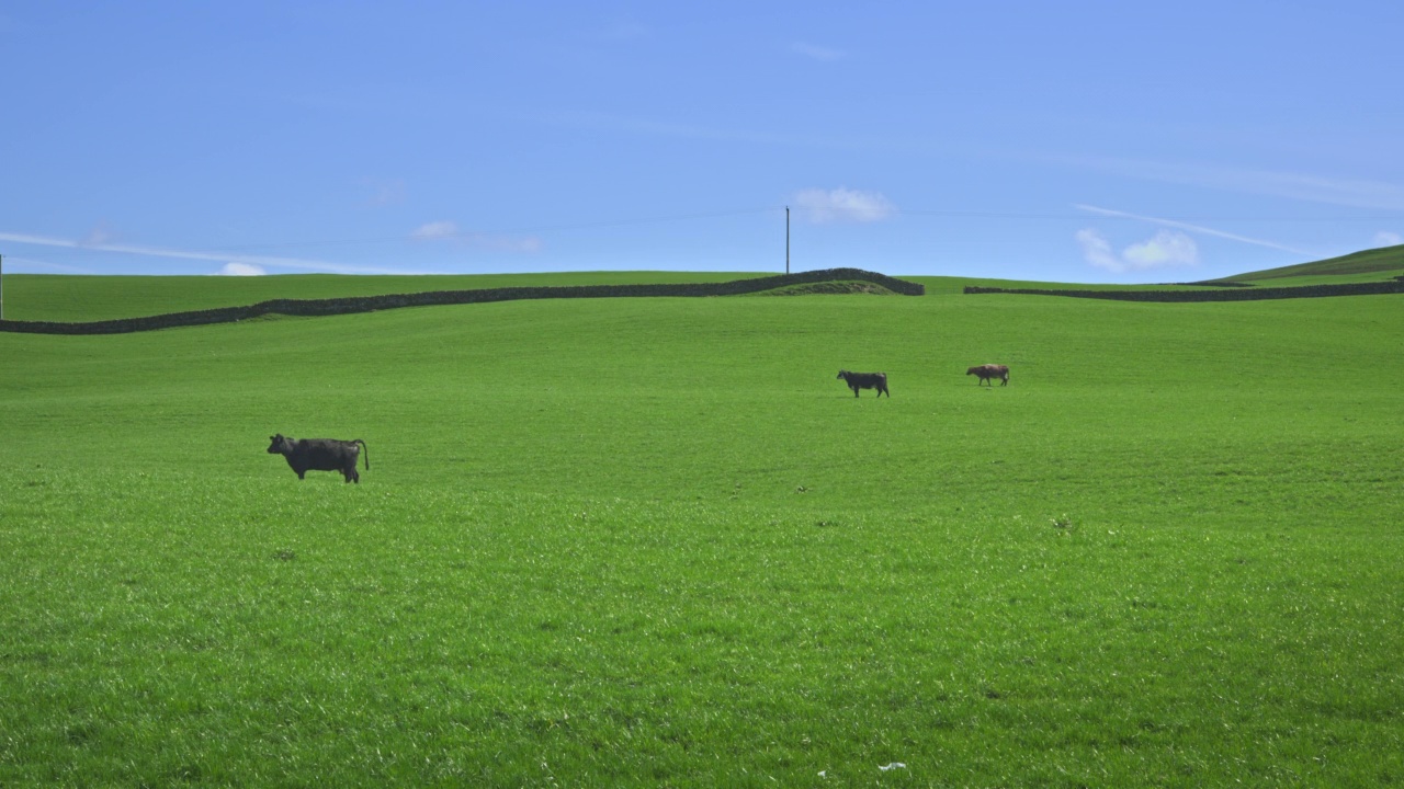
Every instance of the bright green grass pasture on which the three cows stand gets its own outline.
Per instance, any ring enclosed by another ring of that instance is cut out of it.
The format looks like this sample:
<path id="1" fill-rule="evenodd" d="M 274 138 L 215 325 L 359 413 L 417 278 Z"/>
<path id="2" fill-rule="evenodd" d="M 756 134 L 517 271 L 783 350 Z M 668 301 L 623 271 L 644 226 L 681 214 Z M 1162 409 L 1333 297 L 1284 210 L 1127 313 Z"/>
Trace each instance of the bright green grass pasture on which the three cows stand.
<path id="1" fill-rule="evenodd" d="M 958 291 L 0 333 L 0 786 L 1404 783 L 1404 300 Z"/>

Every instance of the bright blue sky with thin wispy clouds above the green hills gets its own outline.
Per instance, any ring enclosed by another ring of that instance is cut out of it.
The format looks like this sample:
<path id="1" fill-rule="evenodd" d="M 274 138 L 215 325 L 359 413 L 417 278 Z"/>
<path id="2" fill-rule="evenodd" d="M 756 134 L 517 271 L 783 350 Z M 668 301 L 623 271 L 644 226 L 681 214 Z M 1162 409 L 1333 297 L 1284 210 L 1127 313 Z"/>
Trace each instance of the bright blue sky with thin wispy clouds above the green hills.
<path id="1" fill-rule="evenodd" d="M 841 6 L 0 0 L 4 271 L 782 271 L 785 206 L 796 271 L 1404 240 L 1404 3 Z"/>

